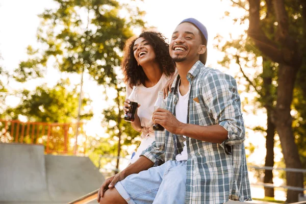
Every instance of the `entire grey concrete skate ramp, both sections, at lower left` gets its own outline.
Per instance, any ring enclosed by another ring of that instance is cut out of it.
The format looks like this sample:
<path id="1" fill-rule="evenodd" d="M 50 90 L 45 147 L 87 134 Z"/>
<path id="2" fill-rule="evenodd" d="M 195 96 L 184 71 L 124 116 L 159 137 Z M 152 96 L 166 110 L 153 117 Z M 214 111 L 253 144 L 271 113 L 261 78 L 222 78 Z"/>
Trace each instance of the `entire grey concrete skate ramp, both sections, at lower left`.
<path id="1" fill-rule="evenodd" d="M 44 146 L 0 143 L 0 203 L 67 203 L 103 176 L 87 157 L 44 155 Z"/>

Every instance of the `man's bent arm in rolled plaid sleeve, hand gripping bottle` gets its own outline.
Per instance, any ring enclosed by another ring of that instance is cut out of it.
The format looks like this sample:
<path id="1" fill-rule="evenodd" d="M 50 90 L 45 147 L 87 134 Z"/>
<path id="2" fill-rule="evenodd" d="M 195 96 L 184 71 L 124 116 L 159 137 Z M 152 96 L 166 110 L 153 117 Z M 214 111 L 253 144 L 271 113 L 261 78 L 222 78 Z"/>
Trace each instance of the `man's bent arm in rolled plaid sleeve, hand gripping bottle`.
<path id="1" fill-rule="evenodd" d="M 244 124 L 235 79 L 219 72 L 209 74 L 205 82 L 201 90 L 202 99 L 217 124 L 209 126 L 185 124 L 163 109 L 158 109 L 154 113 L 154 123 L 161 124 L 173 134 L 219 143 L 223 147 L 225 144 L 241 144 L 244 141 Z"/>

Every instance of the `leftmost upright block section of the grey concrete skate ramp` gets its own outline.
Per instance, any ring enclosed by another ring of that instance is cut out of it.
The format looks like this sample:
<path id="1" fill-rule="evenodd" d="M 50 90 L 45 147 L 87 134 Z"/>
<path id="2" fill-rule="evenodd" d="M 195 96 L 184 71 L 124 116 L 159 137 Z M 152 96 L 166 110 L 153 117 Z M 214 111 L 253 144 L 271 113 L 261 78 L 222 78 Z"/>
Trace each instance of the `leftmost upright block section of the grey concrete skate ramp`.
<path id="1" fill-rule="evenodd" d="M 0 144 L 0 201 L 47 201 L 44 147 Z"/>

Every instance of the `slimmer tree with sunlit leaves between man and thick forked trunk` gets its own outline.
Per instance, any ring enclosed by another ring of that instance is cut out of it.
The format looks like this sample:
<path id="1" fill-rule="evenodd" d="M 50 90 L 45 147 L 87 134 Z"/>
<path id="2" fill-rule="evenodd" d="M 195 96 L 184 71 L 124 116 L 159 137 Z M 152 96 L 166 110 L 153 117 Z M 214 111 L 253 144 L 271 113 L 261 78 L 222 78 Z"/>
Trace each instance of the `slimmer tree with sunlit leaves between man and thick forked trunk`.
<path id="1" fill-rule="evenodd" d="M 253 113 L 250 114 L 254 115 L 257 114 L 256 111 L 258 109 L 266 109 L 267 128 L 265 129 L 261 126 L 248 128 L 252 129 L 253 131 L 263 132 L 263 134 L 266 135 L 265 166 L 273 167 L 275 127 L 269 116 L 271 114 L 273 102 L 275 101 L 276 87 L 272 85 L 272 81 L 275 80 L 275 67 L 272 66 L 270 61 L 260 58 L 261 53 L 257 52 L 257 50 L 254 50 L 253 45 L 247 42 L 246 34 L 242 34 L 238 37 L 238 39 L 231 39 L 225 43 L 222 43 L 222 36 L 217 36 L 216 40 L 217 43 L 215 46 L 217 46 L 217 48 L 225 54 L 225 57 L 219 62 L 219 64 L 230 68 L 233 63 L 236 63 L 239 66 L 239 72 L 235 76 L 238 84 L 244 84 L 246 86 L 246 92 L 253 92 L 256 95 L 255 100 L 249 100 L 247 97 L 246 100 L 242 101 L 242 107 L 247 105 L 253 106 L 254 108 L 251 110 Z M 263 67 L 263 69 L 261 69 L 261 67 Z M 248 111 L 244 109 L 244 112 Z M 264 183 L 273 184 L 272 179 L 272 171 L 265 170 Z M 265 195 L 274 197 L 273 188 L 265 188 Z"/>

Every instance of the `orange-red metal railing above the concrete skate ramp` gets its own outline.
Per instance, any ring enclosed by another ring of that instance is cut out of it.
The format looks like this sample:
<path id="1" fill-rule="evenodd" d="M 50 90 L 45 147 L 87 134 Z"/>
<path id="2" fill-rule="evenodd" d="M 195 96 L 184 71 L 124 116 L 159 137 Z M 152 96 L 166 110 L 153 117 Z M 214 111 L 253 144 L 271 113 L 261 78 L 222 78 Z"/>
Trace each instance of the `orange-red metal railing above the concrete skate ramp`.
<path id="1" fill-rule="evenodd" d="M 87 137 L 83 127 L 83 122 L 47 123 L 0 119 L 0 142 L 43 144 L 46 154 L 85 154 Z M 78 137 L 75 137 L 77 128 Z M 80 137 L 83 140 L 80 140 Z M 80 143 L 82 152 L 78 151 Z"/>

